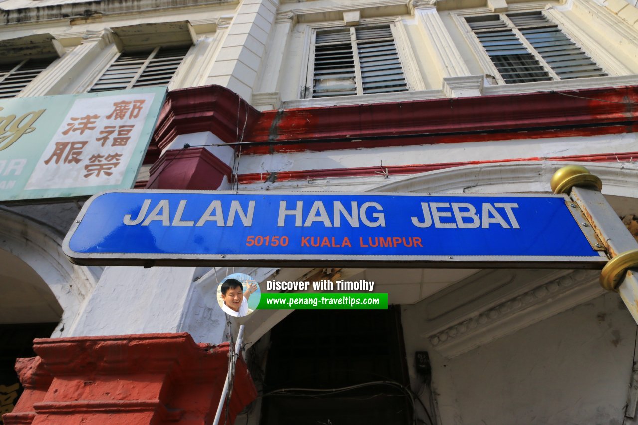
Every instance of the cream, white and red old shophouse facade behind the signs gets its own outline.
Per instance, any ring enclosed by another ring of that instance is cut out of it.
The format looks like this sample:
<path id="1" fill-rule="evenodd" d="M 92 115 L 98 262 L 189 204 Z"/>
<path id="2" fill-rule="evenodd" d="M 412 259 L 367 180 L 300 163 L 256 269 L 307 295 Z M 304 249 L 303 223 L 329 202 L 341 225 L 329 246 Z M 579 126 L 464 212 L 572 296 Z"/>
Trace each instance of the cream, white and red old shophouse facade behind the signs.
<path id="1" fill-rule="evenodd" d="M 577 164 L 638 235 L 635 1 L 0 8 L 0 199 L 3 102 L 167 87 L 138 189 L 534 194 Z M 76 265 L 86 198 L 0 202 L 5 424 L 212 423 L 239 324 L 228 423 L 638 422 L 636 323 L 599 271 Z M 234 272 L 365 279 L 391 306 L 229 319 Z"/>

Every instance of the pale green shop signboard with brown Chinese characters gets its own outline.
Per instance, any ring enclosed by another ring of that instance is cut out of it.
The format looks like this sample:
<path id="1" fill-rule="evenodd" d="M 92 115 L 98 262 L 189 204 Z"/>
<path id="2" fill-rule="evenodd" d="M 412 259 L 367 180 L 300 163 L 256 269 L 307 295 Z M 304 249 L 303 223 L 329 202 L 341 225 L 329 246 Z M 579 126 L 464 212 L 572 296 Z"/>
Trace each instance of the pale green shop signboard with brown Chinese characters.
<path id="1" fill-rule="evenodd" d="M 129 189 L 165 87 L 0 100 L 0 202 Z"/>

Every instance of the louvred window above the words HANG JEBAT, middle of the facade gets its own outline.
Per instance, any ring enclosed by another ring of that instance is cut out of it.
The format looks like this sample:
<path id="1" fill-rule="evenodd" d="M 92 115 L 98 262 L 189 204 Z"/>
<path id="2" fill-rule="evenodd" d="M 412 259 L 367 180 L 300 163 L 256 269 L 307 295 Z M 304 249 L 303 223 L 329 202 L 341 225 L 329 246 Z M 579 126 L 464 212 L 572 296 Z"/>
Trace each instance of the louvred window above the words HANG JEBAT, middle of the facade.
<path id="1" fill-rule="evenodd" d="M 318 29 L 306 97 L 407 91 L 390 24 Z"/>

